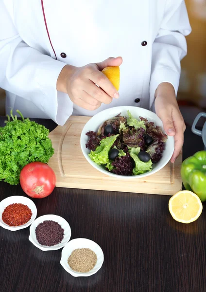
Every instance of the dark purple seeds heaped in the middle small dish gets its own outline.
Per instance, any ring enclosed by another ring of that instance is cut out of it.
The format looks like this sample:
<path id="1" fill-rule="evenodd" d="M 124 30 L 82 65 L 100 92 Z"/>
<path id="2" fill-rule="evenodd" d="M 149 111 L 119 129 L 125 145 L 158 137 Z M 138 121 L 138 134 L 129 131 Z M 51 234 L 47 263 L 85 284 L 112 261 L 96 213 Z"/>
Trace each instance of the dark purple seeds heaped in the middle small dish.
<path id="1" fill-rule="evenodd" d="M 38 243 L 46 246 L 53 246 L 64 238 L 64 229 L 61 225 L 52 220 L 45 220 L 39 223 L 35 229 L 36 239 Z"/>

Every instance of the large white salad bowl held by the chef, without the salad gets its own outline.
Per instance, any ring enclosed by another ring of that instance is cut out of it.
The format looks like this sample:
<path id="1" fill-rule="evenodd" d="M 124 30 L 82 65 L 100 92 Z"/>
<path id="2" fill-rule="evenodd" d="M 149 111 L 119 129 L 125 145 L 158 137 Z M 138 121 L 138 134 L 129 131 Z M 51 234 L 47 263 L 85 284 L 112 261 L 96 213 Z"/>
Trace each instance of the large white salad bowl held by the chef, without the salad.
<path id="1" fill-rule="evenodd" d="M 96 132 L 99 129 L 99 127 L 103 124 L 104 121 L 110 118 L 113 118 L 117 116 L 118 114 L 128 117 L 127 110 L 129 110 L 131 114 L 134 116 L 134 118 L 136 119 L 139 119 L 139 116 L 141 116 L 143 118 L 147 118 L 149 122 L 154 122 L 154 126 L 161 127 L 163 132 L 165 133 L 162 121 L 158 118 L 158 116 L 154 112 L 150 110 L 138 108 L 138 107 L 120 106 L 120 107 L 103 110 L 97 113 L 96 115 L 94 115 L 93 117 L 91 117 L 91 119 L 86 123 L 85 127 L 83 128 L 81 137 L 80 137 L 81 149 L 86 160 L 89 162 L 89 164 L 91 164 L 94 168 L 101 171 L 105 175 L 118 178 L 118 179 L 126 179 L 126 180 L 147 177 L 159 171 L 170 161 L 173 151 L 174 151 L 174 138 L 171 136 L 168 136 L 168 139 L 165 143 L 165 150 L 163 152 L 161 160 L 158 163 L 153 164 L 153 169 L 151 171 L 148 171 L 144 174 L 133 175 L 133 176 L 117 175 L 117 174 L 107 171 L 103 165 L 98 165 L 94 163 L 88 156 L 88 154 L 90 153 L 90 150 L 86 148 L 86 143 L 88 142 L 88 137 L 86 136 L 86 133 L 89 131 Z"/>

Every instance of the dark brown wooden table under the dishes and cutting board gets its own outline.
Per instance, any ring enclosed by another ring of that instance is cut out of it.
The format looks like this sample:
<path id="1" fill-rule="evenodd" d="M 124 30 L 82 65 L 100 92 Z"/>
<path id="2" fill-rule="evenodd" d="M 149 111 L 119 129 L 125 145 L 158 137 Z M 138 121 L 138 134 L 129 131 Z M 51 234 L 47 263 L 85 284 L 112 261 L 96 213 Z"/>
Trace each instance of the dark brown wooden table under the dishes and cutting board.
<path id="1" fill-rule="evenodd" d="M 0 123 L 3 125 L 3 118 Z M 48 120 L 36 120 L 53 129 Z M 185 132 L 184 159 L 203 149 Z M 0 201 L 21 195 L 21 187 L 0 183 Z M 190 224 L 174 221 L 169 196 L 55 188 L 34 199 L 37 217 L 56 214 L 71 227 L 71 239 L 86 237 L 103 249 L 102 269 L 72 277 L 60 265 L 61 250 L 43 252 L 29 240 L 29 228 L 0 227 L 0 292 L 205 292 L 206 204 Z"/>

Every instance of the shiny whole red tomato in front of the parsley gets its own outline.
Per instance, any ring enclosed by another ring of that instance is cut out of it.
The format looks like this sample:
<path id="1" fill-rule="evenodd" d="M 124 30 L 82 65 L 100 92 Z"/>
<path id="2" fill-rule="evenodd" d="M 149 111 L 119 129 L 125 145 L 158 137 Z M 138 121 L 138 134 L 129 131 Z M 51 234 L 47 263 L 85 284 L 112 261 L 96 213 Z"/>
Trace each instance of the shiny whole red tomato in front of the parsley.
<path id="1" fill-rule="evenodd" d="M 29 197 L 41 199 L 49 196 L 53 191 L 56 176 L 48 164 L 32 162 L 21 170 L 20 184 Z"/>

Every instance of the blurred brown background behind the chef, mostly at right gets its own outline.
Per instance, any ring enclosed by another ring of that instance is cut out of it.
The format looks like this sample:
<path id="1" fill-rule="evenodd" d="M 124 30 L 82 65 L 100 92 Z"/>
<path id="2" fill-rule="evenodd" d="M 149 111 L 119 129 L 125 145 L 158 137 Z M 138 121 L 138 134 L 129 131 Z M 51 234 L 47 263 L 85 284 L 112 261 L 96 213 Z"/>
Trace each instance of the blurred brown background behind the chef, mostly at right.
<path id="1" fill-rule="evenodd" d="M 206 112 L 206 0 L 185 2 L 192 32 L 187 37 L 188 55 L 182 60 L 177 100 L 186 125 L 191 126 L 199 112 Z M 4 108 L 5 92 L 0 89 L 0 115 L 5 115 Z"/>

